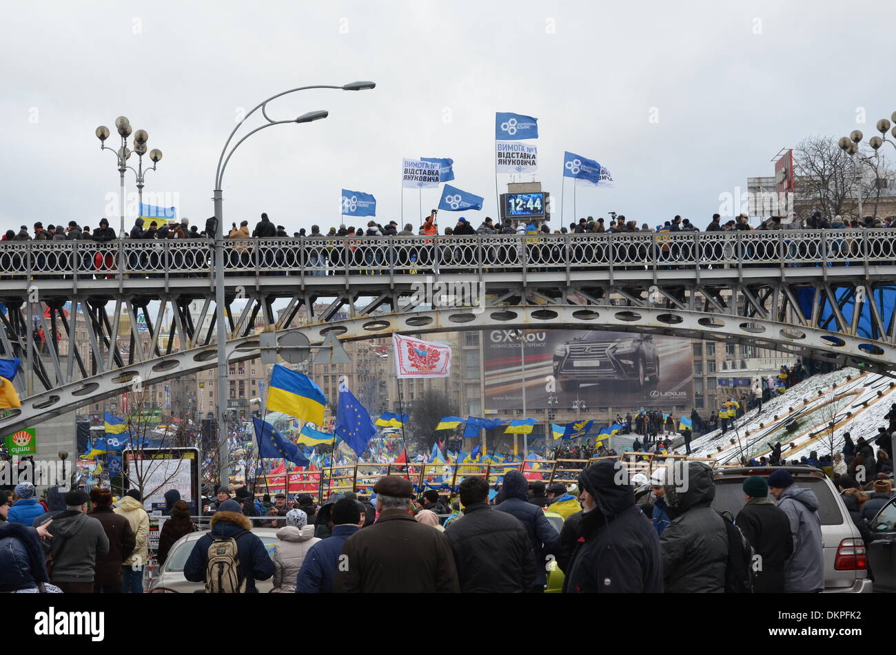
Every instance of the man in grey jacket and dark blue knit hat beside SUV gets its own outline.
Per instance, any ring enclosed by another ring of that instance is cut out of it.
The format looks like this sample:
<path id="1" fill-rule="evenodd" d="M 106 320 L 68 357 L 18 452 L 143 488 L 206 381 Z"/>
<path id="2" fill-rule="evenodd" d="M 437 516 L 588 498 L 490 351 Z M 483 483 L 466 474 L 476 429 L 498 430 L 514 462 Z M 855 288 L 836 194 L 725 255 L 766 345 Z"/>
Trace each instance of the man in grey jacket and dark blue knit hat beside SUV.
<path id="1" fill-rule="evenodd" d="M 824 547 L 818 497 L 812 489 L 797 487 L 785 469 L 769 476 L 769 491 L 787 515 L 793 536 L 793 555 L 784 573 L 784 591 L 812 593 L 824 589 Z"/>

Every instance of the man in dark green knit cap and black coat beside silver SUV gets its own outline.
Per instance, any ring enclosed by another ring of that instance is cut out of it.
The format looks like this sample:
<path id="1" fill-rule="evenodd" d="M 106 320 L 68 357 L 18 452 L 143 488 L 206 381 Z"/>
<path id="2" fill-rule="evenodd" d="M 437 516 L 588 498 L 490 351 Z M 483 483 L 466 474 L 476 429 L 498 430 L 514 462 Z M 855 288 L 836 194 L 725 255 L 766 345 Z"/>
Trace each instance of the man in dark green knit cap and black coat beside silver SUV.
<path id="1" fill-rule="evenodd" d="M 737 513 L 737 527 L 753 546 L 755 593 L 784 593 L 784 565 L 793 554 L 790 520 L 769 498 L 769 484 L 762 475 L 744 481 L 746 505 Z"/>

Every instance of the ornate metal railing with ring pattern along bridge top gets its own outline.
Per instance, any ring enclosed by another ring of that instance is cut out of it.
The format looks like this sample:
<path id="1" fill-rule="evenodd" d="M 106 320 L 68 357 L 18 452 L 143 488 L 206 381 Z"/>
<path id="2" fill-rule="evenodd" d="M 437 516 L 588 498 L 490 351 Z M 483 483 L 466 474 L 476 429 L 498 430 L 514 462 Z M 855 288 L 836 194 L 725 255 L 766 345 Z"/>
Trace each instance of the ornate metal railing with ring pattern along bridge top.
<path id="1" fill-rule="evenodd" d="M 0 275 L 212 276 L 208 239 L 0 242 Z M 227 240 L 231 276 L 885 265 L 896 229 Z"/>

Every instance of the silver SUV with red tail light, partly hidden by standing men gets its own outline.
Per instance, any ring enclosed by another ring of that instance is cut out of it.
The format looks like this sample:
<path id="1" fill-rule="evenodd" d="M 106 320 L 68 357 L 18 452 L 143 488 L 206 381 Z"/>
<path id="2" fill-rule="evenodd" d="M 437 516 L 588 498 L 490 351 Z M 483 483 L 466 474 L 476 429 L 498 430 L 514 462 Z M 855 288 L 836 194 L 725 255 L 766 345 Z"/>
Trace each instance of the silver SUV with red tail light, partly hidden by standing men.
<path id="1" fill-rule="evenodd" d="M 824 472 L 808 466 L 716 469 L 713 471 L 716 486 L 713 508 L 737 516 L 744 506 L 741 485 L 745 479 L 751 475 L 768 476 L 778 469 L 788 471 L 798 487 L 812 489 L 818 498 L 818 517 L 822 522 L 824 548 L 824 591 L 871 593 L 872 582 L 868 579 L 865 542 L 840 500 L 840 494 Z"/>

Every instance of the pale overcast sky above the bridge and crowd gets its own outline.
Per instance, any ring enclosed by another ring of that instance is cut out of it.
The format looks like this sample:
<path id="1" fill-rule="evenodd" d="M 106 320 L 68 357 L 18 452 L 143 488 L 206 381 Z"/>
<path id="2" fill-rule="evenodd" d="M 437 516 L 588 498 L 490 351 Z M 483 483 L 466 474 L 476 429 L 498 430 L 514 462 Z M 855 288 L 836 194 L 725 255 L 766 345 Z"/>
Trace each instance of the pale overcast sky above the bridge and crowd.
<path id="1" fill-rule="evenodd" d="M 857 1 L 6 2 L 0 225 L 117 217 L 115 159 L 93 134 L 114 132 L 117 115 L 164 152 L 146 191 L 201 222 L 241 107 L 373 80 L 272 103 L 275 118 L 330 117 L 246 141 L 228 166 L 225 225 L 262 211 L 290 234 L 338 225 L 343 187 L 373 193 L 378 221 L 401 220 L 401 158 L 420 156 L 454 159 L 453 184 L 486 198 L 468 213 L 478 225 L 496 215 L 495 111 L 511 111 L 538 117 L 537 179 L 556 200 L 564 150 L 614 174 L 615 189 L 576 191 L 579 216 L 703 227 L 720 193 L 773 174 L 781 148 L 870 133 L 896 110 L 894 18 L 896 5 Z M 424 211 L 437 200 L 423 191 Z M 417 191 L 404 218 L 418 223 Z"/>

